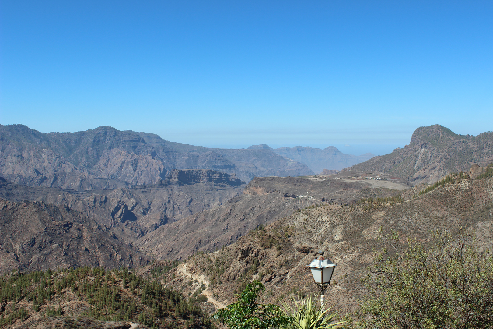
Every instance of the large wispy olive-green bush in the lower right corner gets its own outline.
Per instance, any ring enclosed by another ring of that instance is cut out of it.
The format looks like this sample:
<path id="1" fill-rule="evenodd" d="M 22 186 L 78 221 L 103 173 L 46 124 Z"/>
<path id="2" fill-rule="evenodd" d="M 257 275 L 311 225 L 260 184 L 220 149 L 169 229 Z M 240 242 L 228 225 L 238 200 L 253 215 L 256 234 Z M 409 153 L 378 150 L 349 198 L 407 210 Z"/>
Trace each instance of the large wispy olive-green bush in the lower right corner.
<path id="1" fill-rule="evenodd" d="M 360 305 L 356 328 L 492 328 L 493 257 L 473 235 L 432 233 L 431 244 L 384 236 L 364 279 L 373 297 Z M 388 249 L 387 249 L 388 248 Z"/>

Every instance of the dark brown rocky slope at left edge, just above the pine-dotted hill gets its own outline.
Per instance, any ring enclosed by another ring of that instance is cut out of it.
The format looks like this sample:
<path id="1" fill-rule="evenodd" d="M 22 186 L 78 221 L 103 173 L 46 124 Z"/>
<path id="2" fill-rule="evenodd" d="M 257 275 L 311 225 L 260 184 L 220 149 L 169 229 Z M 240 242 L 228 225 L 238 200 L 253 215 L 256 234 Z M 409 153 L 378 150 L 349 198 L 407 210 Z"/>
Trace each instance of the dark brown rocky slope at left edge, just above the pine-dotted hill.
<path id="1" fill-rule="evenodd" d="M 0 272 L 91 265 L 142 266 L 150 257 L 68 207 L 0 199 Z"/>

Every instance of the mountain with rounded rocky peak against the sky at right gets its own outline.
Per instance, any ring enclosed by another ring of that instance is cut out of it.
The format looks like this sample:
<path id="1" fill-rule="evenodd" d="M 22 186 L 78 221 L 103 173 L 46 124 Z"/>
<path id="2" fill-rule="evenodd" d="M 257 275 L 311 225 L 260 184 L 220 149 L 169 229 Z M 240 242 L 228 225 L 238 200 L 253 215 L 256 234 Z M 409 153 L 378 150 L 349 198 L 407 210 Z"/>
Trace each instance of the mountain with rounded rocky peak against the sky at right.
<path id="1" fill-rule="evenodd" d="M 413 184 L 436 182 L 452 172 L 468 170 L 472 164 L 493 161 L 493 133 L 458 135 L 440 125 L 420 127 L 404 148 L 376 156 L 344 171 L 392 173 Z"/>

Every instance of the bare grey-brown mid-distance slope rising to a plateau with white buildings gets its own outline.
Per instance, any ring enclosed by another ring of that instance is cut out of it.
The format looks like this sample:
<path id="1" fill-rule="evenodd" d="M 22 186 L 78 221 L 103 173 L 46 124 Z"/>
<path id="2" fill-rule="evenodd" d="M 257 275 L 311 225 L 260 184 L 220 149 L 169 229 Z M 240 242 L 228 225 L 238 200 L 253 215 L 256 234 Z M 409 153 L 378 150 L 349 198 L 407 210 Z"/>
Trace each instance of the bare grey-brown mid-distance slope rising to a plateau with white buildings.
<path id="1" fill-rule="evenodd" d="M 396 184 L 382 181 L 385 184 Z M 362 180 L 295 177 L 255 178 L 242 195 L 174 223 L 163 225 L 136 242 L 159 258 L 184 258 L 235 242 L 252 228 L 317 204 L 352 204 L 362 197 L 395 195 L 398 190 L 371 187 Z M 407 185 L 398 184 L 407 188 Z"/>

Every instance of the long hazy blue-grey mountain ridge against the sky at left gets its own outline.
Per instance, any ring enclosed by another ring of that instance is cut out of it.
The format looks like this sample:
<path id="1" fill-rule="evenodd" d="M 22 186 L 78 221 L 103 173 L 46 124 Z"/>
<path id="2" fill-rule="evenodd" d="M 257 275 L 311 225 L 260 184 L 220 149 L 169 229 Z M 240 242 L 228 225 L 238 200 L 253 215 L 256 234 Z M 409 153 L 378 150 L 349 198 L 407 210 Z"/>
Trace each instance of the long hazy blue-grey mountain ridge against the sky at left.
<path id="1" fill-rule="evenodd" d="M 14 183 L 111 189 L 155 184 L 173 169 L 220 170 L 246 182 L 313 174 L 272 150 L 210 149 L 112 127 L 43 134 L 20 124 L 0 125 L 0 175 Z"/>

